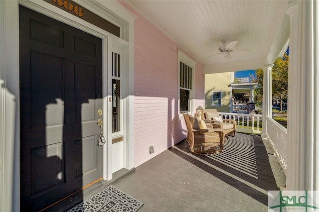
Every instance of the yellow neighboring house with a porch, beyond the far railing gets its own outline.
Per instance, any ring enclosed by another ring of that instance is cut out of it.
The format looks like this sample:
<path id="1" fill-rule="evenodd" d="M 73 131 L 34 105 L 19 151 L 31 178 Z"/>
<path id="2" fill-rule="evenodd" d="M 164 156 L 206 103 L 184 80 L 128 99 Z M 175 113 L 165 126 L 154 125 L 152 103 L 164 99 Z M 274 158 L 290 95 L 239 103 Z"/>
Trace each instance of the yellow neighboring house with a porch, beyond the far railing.
<path id="1" fill-rule="evenodd" d="M 249 78 L 236 78 L 234 72 L 205 75 L 205 108 L 220 112 L 248 112 L 248 103 L 254 102 L 258 83 Z"/>

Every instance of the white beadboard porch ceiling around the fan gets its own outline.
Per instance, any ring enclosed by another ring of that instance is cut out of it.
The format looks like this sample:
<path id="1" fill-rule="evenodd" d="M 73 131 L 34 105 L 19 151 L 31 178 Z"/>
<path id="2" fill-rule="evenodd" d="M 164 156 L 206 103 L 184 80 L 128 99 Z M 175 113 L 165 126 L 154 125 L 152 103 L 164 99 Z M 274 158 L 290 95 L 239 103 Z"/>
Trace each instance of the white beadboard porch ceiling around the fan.
<path id="1" fill-rule="evenodd" d="M 204 64 L 204 73 L 259 69 L 283 55 L 289 40 L 288 0 L 127 0 Z M 231 59 L 216 55 L 237 40 Z M 226 45 L 227 45 L 226 43 Z M 236 51 L 251 48 L 249 51 Z M 213 55 L 215 54 L 215 55 Z M 211 56 L 213 55 L 213 56 Z"/>

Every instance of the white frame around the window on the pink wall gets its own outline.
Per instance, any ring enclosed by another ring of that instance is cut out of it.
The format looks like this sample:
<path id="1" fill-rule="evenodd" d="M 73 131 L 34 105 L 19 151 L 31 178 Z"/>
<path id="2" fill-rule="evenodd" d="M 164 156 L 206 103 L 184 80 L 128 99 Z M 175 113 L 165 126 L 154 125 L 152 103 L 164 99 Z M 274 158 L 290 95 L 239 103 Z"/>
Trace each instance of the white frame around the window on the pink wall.
<path id="1" fill-rule="evenodd" d="M 191 89 L 185 89 L 182 88 L 180 85 L 180 63 L 183 63 L 191 68 Z M 193 114 L 194 113 L 194 99 L 195 99 L 195 66 L 196 62 L 190 59 L 188 56 L 186 56 L 184 53 L 182 53 L 180 50 L 178 50 L 178 69 L 177 69 L 177 74 L 178 74 L 178 89 L 177 89 L 177 97 L 178 97 L 178 114 L 179 118 L 182 118 L 183 115 L 181 112 L 188 112 Z M 189 101 L 188 101 L 188 110 L 180 110 L 180 90 L 188 90 L 189 91 Z"/>

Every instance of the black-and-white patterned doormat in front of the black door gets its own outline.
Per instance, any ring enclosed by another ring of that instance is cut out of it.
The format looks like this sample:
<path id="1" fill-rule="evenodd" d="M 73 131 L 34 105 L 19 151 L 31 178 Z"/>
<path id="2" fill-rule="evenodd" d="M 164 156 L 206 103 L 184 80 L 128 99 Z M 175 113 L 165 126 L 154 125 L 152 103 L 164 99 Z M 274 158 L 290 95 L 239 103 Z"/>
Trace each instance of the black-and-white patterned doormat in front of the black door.
<path id="1" fill-rule="evenodd" d="M 68 212 L 136 212 L 143 203 L 109 186 Z"/>

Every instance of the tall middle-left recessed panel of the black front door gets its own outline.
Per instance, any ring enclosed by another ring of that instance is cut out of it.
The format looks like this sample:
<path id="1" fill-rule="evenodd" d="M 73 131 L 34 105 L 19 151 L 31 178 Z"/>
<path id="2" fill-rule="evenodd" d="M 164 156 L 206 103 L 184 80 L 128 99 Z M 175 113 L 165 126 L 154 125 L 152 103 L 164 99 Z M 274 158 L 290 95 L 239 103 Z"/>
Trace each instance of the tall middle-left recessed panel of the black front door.
<path id="1" fill-rule="evenodd" d="M 62 124 L 64 58 L 31 51 L 30 60 L 31 128 Z"/>

